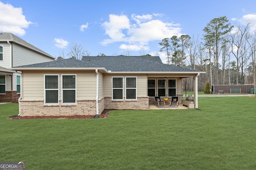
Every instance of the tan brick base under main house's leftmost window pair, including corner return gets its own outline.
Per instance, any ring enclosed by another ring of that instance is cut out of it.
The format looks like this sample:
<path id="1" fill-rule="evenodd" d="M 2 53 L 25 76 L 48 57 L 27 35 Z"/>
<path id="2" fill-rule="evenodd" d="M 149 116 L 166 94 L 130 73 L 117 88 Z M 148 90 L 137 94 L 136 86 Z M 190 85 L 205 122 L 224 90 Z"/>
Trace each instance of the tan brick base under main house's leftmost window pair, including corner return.
<path id="1" fill-rule="evenodd" d="M 104 110 L 99 100 L 99 114 Z M 96 100 L 77 100 L 76 104 L 45 105 L 44 100 L 20 100 L 20 116 L 96 115 Z"/>

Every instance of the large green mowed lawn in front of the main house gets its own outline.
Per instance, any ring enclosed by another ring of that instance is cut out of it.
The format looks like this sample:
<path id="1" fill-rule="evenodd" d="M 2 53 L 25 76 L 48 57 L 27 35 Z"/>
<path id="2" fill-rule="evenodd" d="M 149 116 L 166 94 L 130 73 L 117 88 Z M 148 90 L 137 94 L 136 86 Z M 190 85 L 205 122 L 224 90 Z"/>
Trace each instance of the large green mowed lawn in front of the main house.
<path id="1" fill-rule="evenodd" d="M 256 169 L 256 98 L 200 97 L 196 109 L 111 111 L 104 119 L 6 119 L 0 161 L 30 170 Z"/>

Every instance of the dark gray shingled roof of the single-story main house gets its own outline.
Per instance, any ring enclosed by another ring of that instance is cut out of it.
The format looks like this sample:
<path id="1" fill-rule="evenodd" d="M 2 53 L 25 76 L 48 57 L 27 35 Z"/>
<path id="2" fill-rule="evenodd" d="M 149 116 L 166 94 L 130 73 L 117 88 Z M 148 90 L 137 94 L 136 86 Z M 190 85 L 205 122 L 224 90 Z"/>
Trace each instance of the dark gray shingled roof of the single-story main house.
<path id="1" fill-rule="evenodd" d="M 106 68 L 111 72 L 201 72 L 189 68 L 163 64 L 160 57 L 144 56 L 84 56 L 82 60 L 62 59 L 15 68 Z"/>

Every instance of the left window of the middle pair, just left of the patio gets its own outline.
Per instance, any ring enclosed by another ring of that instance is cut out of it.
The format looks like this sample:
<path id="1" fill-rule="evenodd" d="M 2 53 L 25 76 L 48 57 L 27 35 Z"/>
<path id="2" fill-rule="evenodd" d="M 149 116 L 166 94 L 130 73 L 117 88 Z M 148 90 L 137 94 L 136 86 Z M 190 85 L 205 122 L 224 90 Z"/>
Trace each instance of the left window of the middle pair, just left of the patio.
<path id="1" fill-rule="evenodd" d="M 112 99 L 123 99 L 123 78 L 112 78 Z"/>

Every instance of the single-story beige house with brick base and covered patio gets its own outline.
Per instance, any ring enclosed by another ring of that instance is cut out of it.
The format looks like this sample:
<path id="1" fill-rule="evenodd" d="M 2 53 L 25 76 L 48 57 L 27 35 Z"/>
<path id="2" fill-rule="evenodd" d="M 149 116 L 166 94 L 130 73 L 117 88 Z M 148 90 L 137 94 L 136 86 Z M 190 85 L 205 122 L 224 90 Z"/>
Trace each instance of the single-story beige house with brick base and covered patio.
<path id="1" fill-rule="evenodd" d="M 95 115 L 104 109 L 148 110 L 154 96 L 183 99 L 182 78 L 197 70 L 163 64 L 160 57 L 100 56 L 12 68 L 22 72 L 20 116 Z"/>

